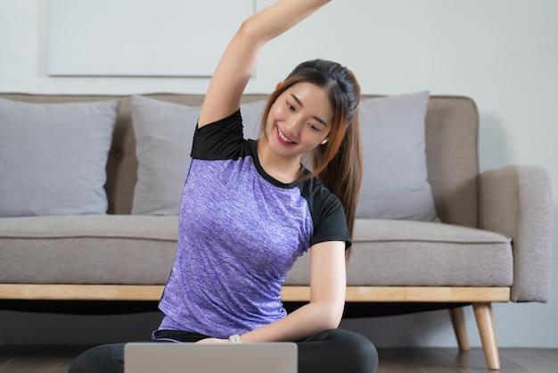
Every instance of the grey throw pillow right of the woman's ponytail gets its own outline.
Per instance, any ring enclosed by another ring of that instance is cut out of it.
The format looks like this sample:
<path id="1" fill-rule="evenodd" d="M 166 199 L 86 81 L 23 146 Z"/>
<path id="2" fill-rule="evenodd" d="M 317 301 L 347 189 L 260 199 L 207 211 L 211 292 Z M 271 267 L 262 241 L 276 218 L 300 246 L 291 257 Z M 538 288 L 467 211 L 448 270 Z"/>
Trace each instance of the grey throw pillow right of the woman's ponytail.
<path id="1" fill-rule="evenodd" d="M 357 218 L 437 220 L 426 169 L 429 92 L 360 104 L 364 176 Z"/>

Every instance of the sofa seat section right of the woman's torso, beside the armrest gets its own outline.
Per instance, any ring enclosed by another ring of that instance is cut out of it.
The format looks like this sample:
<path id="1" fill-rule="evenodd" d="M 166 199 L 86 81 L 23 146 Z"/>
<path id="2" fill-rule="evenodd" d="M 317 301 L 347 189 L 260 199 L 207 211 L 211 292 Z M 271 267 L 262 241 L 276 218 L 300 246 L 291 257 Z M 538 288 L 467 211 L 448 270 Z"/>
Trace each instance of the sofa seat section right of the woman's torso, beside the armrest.
<path id="1" fill-rule="evenodd" d="M 308 285 L 308 265 L 305 255 L 286 284 Z M 347 282 L 349 286 L 512 286 L 512 239 L 437 222 L 357 220 Z"/>

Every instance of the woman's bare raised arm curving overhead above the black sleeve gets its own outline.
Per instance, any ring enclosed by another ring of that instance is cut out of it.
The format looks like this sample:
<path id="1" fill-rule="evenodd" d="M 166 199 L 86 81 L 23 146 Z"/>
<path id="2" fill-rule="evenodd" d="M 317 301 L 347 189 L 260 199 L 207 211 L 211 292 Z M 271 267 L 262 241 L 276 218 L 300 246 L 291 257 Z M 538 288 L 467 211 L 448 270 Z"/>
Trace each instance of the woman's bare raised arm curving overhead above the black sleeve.
<path id="1" fill-rule="evenodd" d="M 198 127 L 226 118 L 238 110 L 262 46 L 329 1 L 279 0 L 243 21 L 213 73 Z"/>

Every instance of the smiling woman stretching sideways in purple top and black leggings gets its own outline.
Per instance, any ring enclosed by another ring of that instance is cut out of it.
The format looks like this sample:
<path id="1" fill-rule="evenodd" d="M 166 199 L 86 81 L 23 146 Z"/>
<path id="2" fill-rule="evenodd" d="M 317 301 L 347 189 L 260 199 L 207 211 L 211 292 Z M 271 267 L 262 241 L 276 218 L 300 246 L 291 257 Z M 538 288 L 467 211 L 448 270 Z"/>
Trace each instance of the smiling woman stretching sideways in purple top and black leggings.
<path id="1" fill-rule="evenodd" d="M 260 137 L 239 110 L 262 46 L 326 0 L 280 0 L 242 23 L 209 84 L 180 208 L 178 250 L 155 341 L 293 341 L 299 371 L 374 372 L 368 339 L 336 329 L 361 180 L 360 88 L 338 63 L 303 62 L 270 95 Z M 312 172 L 301 166 L 311 154 Z M 287 314 L 281 286 L 310 252 L 310 302 Z M 124 344 L 84 352 L 70 368 L 121 372 Z"/>

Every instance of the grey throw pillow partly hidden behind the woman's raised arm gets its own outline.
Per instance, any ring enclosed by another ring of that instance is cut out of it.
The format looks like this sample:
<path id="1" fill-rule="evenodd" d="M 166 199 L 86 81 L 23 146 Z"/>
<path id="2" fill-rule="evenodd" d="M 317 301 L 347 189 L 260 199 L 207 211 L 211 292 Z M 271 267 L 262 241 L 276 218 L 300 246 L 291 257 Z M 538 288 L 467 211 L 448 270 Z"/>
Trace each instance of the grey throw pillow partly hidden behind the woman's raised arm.
<path id="1" fill-rule="evenodd" d="M 242 104 L 245 137 L 258 136 L 264 101 Z M 132 214 L 178 215 L 200 106 L 132 96 L 137 182 Z"/>

